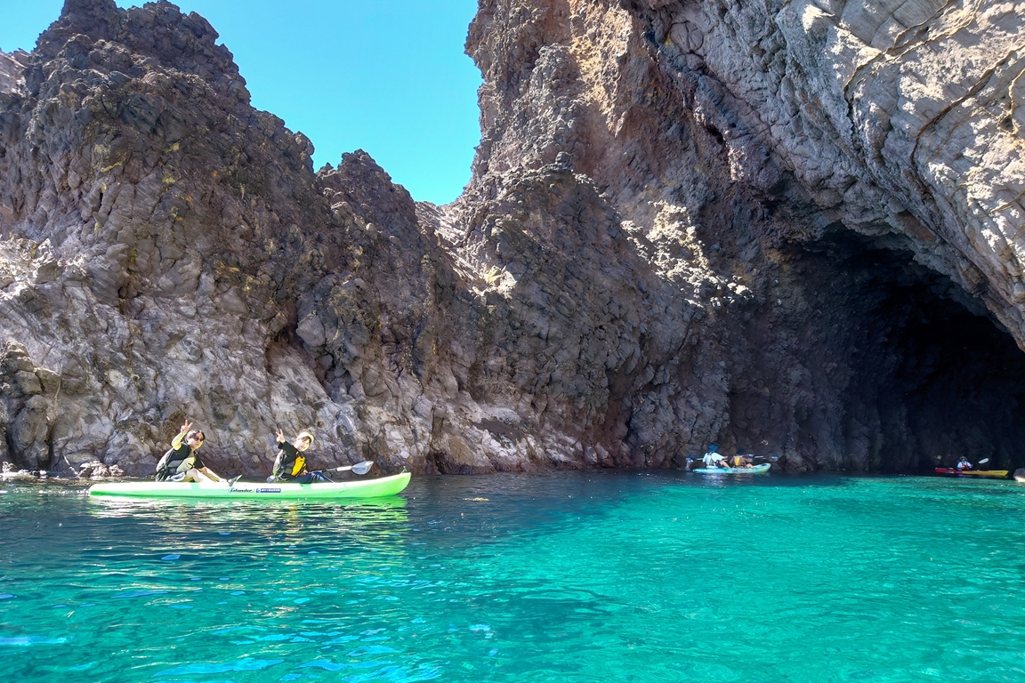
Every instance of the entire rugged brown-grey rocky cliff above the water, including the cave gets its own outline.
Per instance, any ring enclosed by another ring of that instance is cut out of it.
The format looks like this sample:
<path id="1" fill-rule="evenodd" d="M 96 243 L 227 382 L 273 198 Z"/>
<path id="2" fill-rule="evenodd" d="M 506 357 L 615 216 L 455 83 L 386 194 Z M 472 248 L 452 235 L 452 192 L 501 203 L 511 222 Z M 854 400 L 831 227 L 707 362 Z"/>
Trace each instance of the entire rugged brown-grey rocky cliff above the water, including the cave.
<path id="1" fill-rule="evenodd" d="M 0 459 L 1022 464 L 1023 12 L 482 0 L 436 207 L 315 173 L 202 17 L 67 0 L 0 55 Z"/>

